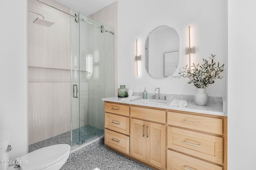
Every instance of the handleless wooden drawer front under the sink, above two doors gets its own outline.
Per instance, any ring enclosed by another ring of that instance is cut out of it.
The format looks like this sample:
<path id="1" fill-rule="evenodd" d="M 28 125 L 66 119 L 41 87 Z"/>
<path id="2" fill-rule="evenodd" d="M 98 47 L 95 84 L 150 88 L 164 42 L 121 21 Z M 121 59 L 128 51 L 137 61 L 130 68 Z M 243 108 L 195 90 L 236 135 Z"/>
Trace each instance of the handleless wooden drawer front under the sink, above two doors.
<path id="1" fill-rule="evenodd" d="M 131 106 L 131 117 L 166 123 L 166 111 Z"/>

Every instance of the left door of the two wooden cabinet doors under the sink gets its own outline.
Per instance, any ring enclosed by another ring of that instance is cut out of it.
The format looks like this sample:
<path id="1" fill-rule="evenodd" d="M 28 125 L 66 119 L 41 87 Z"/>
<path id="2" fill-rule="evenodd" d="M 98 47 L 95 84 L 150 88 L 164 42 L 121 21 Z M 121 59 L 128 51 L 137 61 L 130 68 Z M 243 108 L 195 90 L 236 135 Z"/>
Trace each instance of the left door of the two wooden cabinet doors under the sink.
<path id="1" fill-rule="evenodd" d="M 130 154 L 146 161 L 146 122 L 130 119 Z"/>

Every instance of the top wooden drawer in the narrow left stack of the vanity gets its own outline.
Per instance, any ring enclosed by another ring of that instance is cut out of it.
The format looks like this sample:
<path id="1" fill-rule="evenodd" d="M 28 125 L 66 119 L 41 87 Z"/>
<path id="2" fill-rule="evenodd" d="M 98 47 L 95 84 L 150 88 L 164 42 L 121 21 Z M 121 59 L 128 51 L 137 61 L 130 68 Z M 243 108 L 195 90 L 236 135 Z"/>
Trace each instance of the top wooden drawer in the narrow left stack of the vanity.
<path id="1" fill-rule="evenodd" d="M 105 102 L 105 111 L 110 112 L 110 113 L 116 113 L 116 114 L 120 114 L 120 115 L 129 116 L 130 115 L 130 106 Z"/>

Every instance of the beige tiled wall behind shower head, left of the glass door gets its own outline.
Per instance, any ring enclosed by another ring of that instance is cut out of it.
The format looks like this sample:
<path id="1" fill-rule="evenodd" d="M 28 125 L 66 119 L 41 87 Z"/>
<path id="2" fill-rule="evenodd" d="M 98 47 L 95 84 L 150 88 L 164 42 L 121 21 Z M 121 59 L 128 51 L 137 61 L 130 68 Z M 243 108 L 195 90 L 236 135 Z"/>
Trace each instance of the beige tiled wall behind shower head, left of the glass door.
<path id="1" fill-rule="evenodd" d="M 53 0 L 57 8 L 71 10 Z M 34 24 L 41 16 L 28 12 L 28 144 L 70 131 L 71 94 L 70 16 L 36 0 L 28 10 L 55 22 L 51 27 Z"/>

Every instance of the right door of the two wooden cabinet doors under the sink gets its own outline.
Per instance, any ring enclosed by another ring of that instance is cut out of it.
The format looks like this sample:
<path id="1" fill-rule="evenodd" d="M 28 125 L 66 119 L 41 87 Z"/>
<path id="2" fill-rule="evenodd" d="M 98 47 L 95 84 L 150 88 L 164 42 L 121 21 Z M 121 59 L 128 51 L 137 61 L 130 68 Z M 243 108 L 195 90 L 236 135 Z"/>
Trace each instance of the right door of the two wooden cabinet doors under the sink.
<path id="1" fill-rule="evenodd" d="M 146 122 L 146 161 L 162 169 L 166 168 L 165 132 L 165 125 Z"/>

